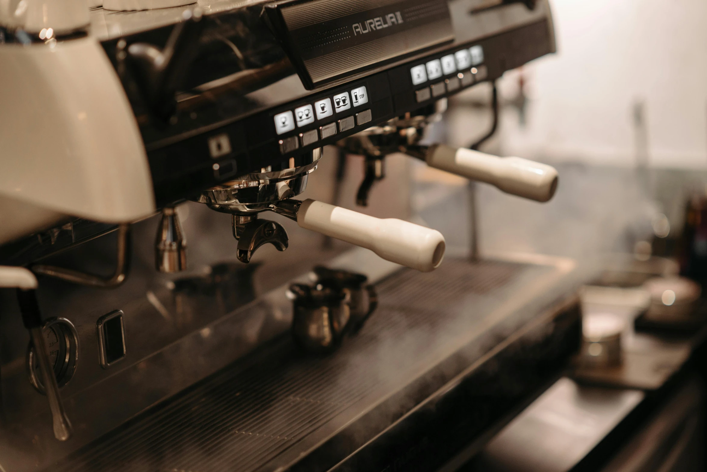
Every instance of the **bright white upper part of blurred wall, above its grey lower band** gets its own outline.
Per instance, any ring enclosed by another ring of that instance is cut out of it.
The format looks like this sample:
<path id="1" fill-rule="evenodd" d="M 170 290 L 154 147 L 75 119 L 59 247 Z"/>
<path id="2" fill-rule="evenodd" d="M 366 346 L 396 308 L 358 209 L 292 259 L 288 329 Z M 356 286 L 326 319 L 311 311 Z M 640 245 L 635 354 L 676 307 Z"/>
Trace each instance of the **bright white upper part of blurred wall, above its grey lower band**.
<path id="1" fill-rule="evenodd" d="M 499 83 L 507 155 L 707 168 L 707 1 L 551 0 L 558 54 Z M 522 79 L 520 76 L 522 75 Z"/>

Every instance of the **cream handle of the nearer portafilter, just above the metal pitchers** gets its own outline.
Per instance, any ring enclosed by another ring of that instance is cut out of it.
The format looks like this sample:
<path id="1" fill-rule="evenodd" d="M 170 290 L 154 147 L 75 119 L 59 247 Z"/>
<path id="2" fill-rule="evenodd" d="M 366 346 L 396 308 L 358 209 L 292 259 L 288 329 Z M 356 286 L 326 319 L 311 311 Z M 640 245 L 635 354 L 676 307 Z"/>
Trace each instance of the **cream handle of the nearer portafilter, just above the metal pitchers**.
<path id="1" fill-rule="evenodd" d="M 422 272 L 436 269 L 444 256 L 444 236 L 437 230 L 396 218 L 375 218 L 321 201 L 303 201 L 297 224 Z"/>

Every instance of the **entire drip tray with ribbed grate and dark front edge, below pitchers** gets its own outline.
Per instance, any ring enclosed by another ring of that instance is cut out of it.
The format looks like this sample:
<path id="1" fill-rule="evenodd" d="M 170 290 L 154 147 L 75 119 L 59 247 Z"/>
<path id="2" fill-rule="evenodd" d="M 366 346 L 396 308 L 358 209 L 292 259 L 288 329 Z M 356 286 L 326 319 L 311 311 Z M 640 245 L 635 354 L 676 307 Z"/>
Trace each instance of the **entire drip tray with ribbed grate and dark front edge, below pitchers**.
<path id="1" fill-rule="evenodd" d="M 575 272 L 460 259 L 397 271 L 333 355 L 280 336 L 52 471 L 436 468 L 501 427 L 578 346 Z"/>

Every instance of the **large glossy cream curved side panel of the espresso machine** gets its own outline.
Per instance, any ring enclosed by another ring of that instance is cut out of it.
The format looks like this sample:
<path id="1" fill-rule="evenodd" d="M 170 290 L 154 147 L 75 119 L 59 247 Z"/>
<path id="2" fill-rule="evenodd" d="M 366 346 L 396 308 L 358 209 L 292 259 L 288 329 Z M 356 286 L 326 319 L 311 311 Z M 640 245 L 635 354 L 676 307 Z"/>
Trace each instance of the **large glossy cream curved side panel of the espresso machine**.
<path id="1" fill-rule="evenodd" d="M 0 64 L 0 197 L 106 223 L 155 211 L 134 114 L 98 42 L 2 45 Z"/>

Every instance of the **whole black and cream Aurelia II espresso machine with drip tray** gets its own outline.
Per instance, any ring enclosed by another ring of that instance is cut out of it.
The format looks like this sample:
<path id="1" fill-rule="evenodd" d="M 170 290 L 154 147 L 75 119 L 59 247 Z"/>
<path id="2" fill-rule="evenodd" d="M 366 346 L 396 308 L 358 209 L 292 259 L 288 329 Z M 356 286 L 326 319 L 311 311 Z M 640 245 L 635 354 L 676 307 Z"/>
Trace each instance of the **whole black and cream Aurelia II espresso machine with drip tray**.
<path id="1" fill-rule="evenodd" d="M 3 470 L 455 470 L 566 365 L 573 261 L 297 198 L 335 146 L 361 204 L 392 153 L 551 199 L 423 139 L 554 52 L 547 1 L 64 3 L 0 4 Z M 300 228 L 338 252 L 257 258 Z"/>

